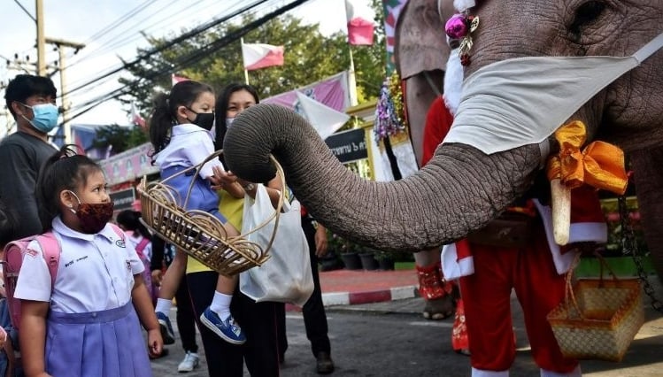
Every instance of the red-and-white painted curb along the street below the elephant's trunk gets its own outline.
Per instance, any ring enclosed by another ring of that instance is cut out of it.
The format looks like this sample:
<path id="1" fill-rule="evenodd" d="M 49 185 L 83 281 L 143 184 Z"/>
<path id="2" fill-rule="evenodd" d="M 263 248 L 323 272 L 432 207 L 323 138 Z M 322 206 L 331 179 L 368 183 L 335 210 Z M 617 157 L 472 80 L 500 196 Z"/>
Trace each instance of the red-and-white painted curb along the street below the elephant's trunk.
<path id="1" fill-rule="evenodd" d="M 325 307 L 336 305 L 356 305 L 383 303 L 393 300 L 416 297 L 416 285 L 394 287 L 391 289 L 373 290 L 366 292 L 328 292 L 322 294 L 322 304 Z M 301 312 L 302 308 L 293 304 L 286 304 L 286 311 Z"/>

